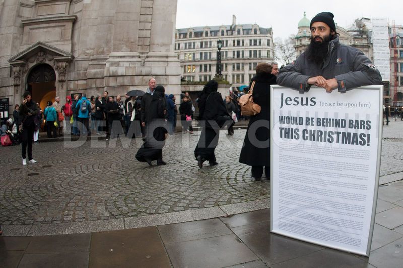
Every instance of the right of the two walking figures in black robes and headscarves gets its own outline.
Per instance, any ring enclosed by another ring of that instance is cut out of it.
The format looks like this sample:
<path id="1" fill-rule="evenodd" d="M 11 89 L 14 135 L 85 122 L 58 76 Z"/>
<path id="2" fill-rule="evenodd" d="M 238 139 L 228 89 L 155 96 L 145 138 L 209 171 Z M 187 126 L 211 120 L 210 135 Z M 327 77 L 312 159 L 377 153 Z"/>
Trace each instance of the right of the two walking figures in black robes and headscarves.
<path id="1" fill-rule="evenodd" d="M 217 88 L 216 81 L 209 81 L 198 98 L 198 120 L 201 124 L 201 135 L 194 149 L 194 156 L 199 168 L 203 168 L 204 161 L 209 161 L 210 166 L 218 164 L 214 150 L 218 144 L 220 128 L 232 121 Z"/>

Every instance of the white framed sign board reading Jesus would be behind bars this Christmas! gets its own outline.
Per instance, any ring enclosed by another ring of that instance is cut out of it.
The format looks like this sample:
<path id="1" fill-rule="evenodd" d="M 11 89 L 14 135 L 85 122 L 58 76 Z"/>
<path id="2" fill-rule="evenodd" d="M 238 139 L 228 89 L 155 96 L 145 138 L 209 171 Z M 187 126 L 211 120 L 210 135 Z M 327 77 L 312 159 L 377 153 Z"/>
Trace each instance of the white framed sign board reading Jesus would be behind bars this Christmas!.
<path id="1" fill-rule="evenodd" d="M 369 256 L 383 86 L 271 91 L 271 231 Z"/>

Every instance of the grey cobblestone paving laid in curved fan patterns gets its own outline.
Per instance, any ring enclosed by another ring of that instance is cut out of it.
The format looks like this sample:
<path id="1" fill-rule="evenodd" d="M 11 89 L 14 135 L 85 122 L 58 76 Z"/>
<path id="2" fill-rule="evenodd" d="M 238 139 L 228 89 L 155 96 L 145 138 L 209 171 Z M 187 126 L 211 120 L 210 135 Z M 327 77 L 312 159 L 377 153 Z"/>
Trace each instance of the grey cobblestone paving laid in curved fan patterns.
<path id="1" fill-rule="evenodd" d="M 381 176 L 403 172 L 402 127 L 403 121 L 384 127 Z M 203 169 L 193 156 L 199 132 L 168 138 L 166 166 L 136 161 L 139 139 L 39 143 L 38 163 L 25 167 L 21 146 L 1 148 L 0 224 L 117 219 L 267 199 L 270 182 L 253 181 L 250 167 L 238 163 L 245 132 L 221 131 L 219 165 Z"/>

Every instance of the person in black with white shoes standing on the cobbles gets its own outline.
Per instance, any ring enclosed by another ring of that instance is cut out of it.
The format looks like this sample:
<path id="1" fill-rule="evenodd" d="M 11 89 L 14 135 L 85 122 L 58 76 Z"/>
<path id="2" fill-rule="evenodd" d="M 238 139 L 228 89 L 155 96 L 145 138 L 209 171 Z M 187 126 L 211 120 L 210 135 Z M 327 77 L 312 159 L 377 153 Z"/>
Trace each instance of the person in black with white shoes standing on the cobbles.
<path id="1" fill-rule="evenodd" d="M 35 122 L 34 117 L 39 113 L 35 101 L 32 101 L 31 93 L 24 92 L 24 101 L 20 105 L 20 131 L 22 135 L 22 164 L 27 164 L 26 151 L 28 147 L 28 162 L 33 164 L 36 161 L 32 158 L 32 140 L 34 139 Z M 22 129 L 21 129 L 22 128 Z"/>

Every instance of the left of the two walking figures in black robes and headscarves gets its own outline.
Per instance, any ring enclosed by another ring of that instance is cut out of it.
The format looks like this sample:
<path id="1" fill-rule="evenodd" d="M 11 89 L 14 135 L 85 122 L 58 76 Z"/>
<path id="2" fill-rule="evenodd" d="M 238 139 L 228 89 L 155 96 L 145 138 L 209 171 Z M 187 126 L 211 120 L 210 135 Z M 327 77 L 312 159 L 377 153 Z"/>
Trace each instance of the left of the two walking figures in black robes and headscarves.
<path id="1" fill-rule="evenodd" d="M 136 153 L 136 159 L 140 162 L 157 160 L 157 165 L 166 165 L 162 160 L 162 148 L 165 145 L 167 131 L 166 126 L 166 101 L 165 88 L 162 85 L 155 87 L 150 103 L 146 107 L 145 125 L 146 140 Z"/>

